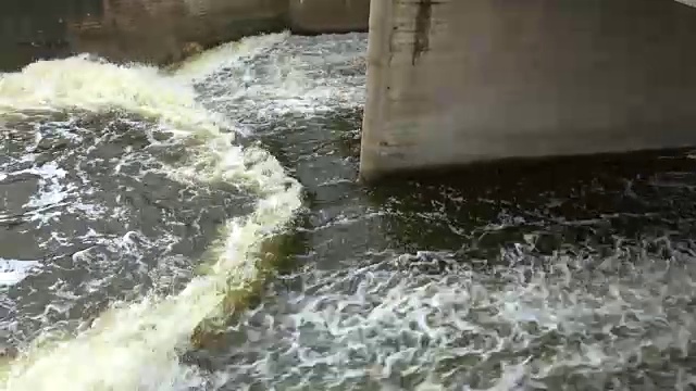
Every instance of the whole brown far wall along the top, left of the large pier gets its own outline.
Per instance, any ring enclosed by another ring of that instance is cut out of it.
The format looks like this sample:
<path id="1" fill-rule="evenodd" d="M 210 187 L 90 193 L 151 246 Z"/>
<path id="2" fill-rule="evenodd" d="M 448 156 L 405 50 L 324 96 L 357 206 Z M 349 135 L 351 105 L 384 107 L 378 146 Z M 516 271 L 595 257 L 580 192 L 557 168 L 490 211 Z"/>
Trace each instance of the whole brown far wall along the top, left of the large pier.
<path id="1" fill-rule="evenodd" d="M 90 52 L 170 63 L 259 33 L 366 30 L 370 0 L 5 0 L 0 70 Z"/>

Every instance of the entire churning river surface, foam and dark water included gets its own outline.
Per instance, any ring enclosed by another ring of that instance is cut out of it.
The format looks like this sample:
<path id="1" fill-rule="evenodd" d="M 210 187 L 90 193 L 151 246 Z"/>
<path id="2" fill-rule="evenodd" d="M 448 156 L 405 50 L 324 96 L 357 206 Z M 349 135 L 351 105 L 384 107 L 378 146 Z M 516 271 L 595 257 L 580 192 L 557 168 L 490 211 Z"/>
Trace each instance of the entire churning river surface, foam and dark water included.
<path id="1" fill-rule="evenodd" d="M 7 390 L 687 390 L 688 151 L 356 181 L 365 35 L 0 75 Z"/>

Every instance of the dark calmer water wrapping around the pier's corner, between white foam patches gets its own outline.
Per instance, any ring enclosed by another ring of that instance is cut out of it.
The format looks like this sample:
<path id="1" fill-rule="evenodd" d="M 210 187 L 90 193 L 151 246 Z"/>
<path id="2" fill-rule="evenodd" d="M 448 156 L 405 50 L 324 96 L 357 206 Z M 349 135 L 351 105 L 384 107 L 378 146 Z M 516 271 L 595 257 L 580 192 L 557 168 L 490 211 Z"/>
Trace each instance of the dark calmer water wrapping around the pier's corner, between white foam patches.
<path id="1" fill-rule="evenodd" d="M 539 255 L 607 255 L 663 239 L 694 248 L 689 150 L 475 164 L 365 186 L 357 182 L 361 114 L 289 115 L 257 136 L 306 187 L 311 252 L 302 256 L 320 268 L 383 251 L 490 262 L 518 243 Z"/>

